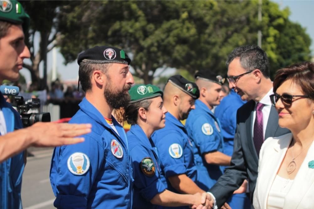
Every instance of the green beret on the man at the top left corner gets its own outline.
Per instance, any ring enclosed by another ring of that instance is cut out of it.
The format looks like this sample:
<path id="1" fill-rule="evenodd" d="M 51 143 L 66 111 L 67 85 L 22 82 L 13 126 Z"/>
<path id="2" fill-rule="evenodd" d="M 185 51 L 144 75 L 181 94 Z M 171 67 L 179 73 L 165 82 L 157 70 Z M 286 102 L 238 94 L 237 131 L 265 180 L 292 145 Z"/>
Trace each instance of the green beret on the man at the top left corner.
<path id="1" fill-rule="evenodd" d="M 22 5 L 15 0 L 0 1 L 0 20 L 22 25 L 24 32 L 28 30 L 30 25 L 30 16 L 25 13 Z"/>

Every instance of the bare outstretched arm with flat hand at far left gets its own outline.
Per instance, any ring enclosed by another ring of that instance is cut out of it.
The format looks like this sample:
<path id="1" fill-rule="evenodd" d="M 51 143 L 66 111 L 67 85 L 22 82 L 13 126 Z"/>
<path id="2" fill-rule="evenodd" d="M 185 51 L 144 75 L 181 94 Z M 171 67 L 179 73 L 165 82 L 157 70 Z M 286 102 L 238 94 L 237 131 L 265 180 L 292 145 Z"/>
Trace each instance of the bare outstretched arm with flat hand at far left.
<path id="1" fill-rule="evenodd" d="M 76 144 L 84 138 L 74 138 L 91 131 L 90 124 L 42 123 L 0 136 L 0 162 L 30 146 L 55 147 Z"/>

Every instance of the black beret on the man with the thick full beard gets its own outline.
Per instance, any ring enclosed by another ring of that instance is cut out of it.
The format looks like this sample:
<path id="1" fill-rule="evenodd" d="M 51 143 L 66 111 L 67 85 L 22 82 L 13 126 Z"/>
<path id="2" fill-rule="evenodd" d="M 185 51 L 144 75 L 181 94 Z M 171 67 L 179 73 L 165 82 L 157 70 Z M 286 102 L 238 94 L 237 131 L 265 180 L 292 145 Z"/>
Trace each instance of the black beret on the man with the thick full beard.
<path id="1" fill-rule="evenodd" d="M 121 63 L 130 65 L 131 59 L 122 49 L 112 46 L 95 46 L 78 55 L 78 65 L 88 63 Z"/>

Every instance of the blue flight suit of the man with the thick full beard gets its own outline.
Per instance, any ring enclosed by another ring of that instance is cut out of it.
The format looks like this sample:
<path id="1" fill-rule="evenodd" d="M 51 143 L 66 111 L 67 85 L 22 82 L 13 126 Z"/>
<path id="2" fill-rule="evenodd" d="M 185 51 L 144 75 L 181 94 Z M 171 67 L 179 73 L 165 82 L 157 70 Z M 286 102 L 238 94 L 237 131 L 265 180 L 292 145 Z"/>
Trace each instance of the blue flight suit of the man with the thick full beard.
<path id="1" fill-rule="evenodd" d="M 117 134 L 86 98 L 79 107 L 69 123 L 91 123 L 92 132 L 83 135 L 83 143 L 54 149 L 50 169 L 54 206 L 130 209 L 133 171 L 124 129 L 112 118 Z"/>

